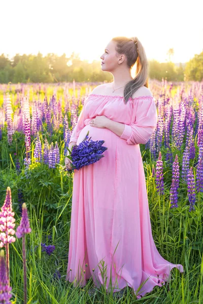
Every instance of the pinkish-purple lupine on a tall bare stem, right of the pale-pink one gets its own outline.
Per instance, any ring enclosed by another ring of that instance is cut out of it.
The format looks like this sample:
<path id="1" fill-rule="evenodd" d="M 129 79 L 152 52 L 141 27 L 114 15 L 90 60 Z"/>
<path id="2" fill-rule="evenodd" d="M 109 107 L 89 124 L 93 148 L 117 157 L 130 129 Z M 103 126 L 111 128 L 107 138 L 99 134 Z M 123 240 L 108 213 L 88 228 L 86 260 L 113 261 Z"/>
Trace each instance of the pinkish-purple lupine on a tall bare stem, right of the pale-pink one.
<path id="1" fill-rule="evenodd" d="M 25 248 L 25 234 L 30 233 L 29 219 L 27 214 L 26 204 L 22 204 L 22 217 L 20 225 L 17 227 L 16 236 L 22 238 L 22 254 L 23 254 L 23 273 L 24 273 L 24 304 L 27 302 L 27 279 L 26 279 L 26 248 Z"/>

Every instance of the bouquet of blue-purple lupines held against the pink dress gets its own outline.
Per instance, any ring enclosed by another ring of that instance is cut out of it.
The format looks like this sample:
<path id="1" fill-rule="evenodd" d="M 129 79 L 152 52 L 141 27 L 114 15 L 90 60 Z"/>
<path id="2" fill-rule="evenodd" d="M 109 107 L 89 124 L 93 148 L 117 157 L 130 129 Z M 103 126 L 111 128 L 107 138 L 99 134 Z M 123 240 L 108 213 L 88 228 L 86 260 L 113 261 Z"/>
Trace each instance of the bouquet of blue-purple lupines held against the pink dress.
<path id="1" fill-rule="evenodd" d="M 90 164 L 96 163 L 99 161 L 104 155 L 102 154 L 108 148 L 103 146 L 105 140 L 90 140 L 88 139 L 89 131 L 87 132 L 85 138 L 79 143 L 79 145 L 72 146 L 72 149 L 69 151 L 70 155 L 66 156 L 72 161 L 72 170 L 66 169 L 65 166 L 63 170 L 73 171 L 74 169 L 80 170 L 80 168 L 84 166 L 88 166 Z"/>

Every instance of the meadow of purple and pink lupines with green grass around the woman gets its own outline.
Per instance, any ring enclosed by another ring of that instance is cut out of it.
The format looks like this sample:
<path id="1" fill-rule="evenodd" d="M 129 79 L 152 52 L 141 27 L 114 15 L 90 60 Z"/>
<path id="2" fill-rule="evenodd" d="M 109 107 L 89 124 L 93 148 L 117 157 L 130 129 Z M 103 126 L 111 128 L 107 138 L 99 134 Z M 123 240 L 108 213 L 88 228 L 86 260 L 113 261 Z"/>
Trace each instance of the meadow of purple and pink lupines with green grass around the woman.
<path id="1" fill-rule="evenodd" d="M 65 281 L 73 173 L 61 170 L 98 83 L 0 84 L 0 304 L 129 303 Z M 183 265 L 145 303 L 203 302 L 203 83 L 150 81 L 157 128 L 141 152 L 159 253 Z M 84 273 L 85 268 L 84 267 Z"/>

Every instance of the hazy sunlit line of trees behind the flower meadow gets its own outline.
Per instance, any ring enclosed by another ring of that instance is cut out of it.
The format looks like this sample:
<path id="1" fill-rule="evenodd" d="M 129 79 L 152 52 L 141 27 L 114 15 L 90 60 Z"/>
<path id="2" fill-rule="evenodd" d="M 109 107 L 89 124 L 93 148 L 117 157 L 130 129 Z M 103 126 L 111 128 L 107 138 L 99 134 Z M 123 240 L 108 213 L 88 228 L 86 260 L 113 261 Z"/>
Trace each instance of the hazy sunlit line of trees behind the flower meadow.
<path id="1" fill-rule="evenodd" d="M 203 52 L 195 54 L 184 64 L 148 62 L 150 79 L 161 81 L 164 78 L 177 82 L 203 80 Z M 0 56 L 1 84 L 72 82 L 74 79 L 76 82 L 104 82 L 112 81 L 113 76 L 101 70 L 101 60 L 88 63 L 75 53 L 70 57 L 66 57 L 65 53 L 61 56 L 49 53 L 43 57 L 40 52 L 37 55 L 16 54 L 12 59 L 4 53 Z"/>

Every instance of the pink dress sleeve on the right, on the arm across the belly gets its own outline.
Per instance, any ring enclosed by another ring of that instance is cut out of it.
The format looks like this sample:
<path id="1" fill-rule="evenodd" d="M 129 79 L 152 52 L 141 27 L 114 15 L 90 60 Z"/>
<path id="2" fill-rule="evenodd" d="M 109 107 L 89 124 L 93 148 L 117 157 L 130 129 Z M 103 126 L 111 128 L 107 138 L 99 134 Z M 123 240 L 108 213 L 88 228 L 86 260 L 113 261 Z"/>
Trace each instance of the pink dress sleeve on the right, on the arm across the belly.
<path id="1" fill-rule="evenodd" d="M 141 96 L 134 100 L 131 123 L 125 124 L 120 138 L 127 144 L 147 143 L 156 129 L 157 109 L 152 96 Z"/>

